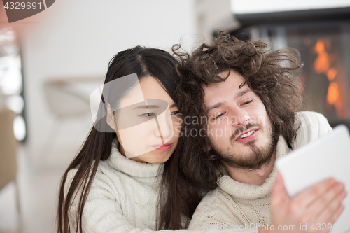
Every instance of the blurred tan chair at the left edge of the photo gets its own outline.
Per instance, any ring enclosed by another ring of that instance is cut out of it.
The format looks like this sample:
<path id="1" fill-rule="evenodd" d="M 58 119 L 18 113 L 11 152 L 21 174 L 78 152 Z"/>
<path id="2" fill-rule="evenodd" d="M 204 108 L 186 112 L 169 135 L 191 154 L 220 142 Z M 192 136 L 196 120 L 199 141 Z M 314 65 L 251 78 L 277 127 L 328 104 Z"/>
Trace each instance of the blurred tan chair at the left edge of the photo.
<path id="1" fill-rule="evenodd" d="M 20 195 L 17 174 L 18 141 L 13 133 L 15 113 L 12 110 L 0 109 L 0 190 L 11 181 L 15 182 L 15 193 L 18 213 L 20 213 Z"/>

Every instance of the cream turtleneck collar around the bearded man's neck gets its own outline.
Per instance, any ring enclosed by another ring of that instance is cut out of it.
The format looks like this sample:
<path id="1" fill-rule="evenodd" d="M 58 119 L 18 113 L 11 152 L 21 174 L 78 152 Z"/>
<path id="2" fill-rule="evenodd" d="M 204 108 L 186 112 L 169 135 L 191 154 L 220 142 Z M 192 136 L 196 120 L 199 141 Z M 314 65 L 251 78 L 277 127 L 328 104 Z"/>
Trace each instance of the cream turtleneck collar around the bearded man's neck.
<path id="1" fill-rule="evenodd" d="M 283 157 L 289 152 L 288 144 L 283 136 L 279 136 L 276 146 L 276 160 Z M 277 177 L 276 166 L 272 169 L 271 174 L 262 185 L 248 185 L 240 183 L 231 178 L 231 176 L 223 176 L 218 180 L 218 186 L 228 194 L 240 199 L 257 199 L 267 197 L 271 193 L 272 185 Z"/>

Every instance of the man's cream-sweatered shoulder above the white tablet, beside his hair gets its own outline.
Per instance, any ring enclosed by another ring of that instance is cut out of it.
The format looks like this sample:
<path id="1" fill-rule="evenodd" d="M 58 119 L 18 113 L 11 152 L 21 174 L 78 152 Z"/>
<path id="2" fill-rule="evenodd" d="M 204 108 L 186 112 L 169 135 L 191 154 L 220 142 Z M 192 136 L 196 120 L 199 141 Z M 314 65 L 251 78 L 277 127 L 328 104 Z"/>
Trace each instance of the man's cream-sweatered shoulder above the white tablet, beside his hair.
<path id="1" fill-rule="evenodd" d="M 327 118 L 321 113 L 311 111 L 296 113 L 295 129 L 297 129 L 297 134 L 293 143 L 294 148 L 304 146 L 332 131 Z"/>

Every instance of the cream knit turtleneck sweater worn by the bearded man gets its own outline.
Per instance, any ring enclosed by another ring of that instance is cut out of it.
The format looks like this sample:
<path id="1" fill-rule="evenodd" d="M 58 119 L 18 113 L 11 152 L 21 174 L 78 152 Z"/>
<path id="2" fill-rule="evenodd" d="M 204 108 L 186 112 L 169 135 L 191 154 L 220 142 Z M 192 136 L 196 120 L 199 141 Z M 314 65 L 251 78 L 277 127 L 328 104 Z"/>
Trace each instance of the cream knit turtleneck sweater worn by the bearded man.
<path id="1" fill-rule="evenodd" d="M 294 149 L 332 131 L 328 121 L 319 113 L 297 113 L 295 127 L 299 125 L 292 145 Z M 289 150 L 286 140 L 280 136 L 276 146 L 276 158 L 283 157 Z M 242 226 L 241 228 L 248 227 L 253 230 L 255 227 L 250 228 L 253 224 L 270 224 L 269 197 L 276 175 L 277 169 L 274 167 L 269 178 L 260 186 L 240 183 L 230 176 L 221 177 L 218 180 L 219 187 L 208 192 L 197 206 L 188 229 L 227 229 Z"/>

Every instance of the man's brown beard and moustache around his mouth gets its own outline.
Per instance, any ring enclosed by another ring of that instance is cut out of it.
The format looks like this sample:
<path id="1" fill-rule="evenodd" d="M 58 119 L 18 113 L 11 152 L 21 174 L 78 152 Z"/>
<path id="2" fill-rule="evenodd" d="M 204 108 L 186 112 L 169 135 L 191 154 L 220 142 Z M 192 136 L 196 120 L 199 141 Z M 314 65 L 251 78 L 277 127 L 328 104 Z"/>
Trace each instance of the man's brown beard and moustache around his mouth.
<path id="1" fill-rule="evenodd" d="M 261 125 L 251 125 L 248 124 L 246 127 L 241 127 L 239 129 L 235 130 L 235 133 L 231 136 L 231 144 L 232 141 L 235 140 L 235 137 L 239 134 L 239 132 L 243 132 L 245 130 L 250 129 L 251 127 L 258 126 L 259 129 L 262 129 Z M 238 133 L 237 133 L 238 132 Z M 214 144 L 211 145 L 211 150 L 215 153 L 215 155 L 218 156 L 219 160 L 221 162 L 225 162 L 225 164 L 228 164 L 228 166 L 236 169 L 249 169 L 249 170 L 258 170 L 262 166 L 269 164 L 272 160 L 272 155 L 274 155 L 274 151 L 276 149 L 276 145 L 274 143 L 275 135 L 271 132 L 269 135 L 269 142 L 262 146 L 261 148 L 258 148 L 258 146 L 255 145 L 255 140 L 248 141 L 246 144 L 247 147 L 251 148 L 250 153 L 244 154 L 237 154 L 234 152 L 235 148 L 232 146 L 231 148 L 228 148 L 226 153 L 223 153 L 223 151 L 217 150 Z M 232 151 L 232 152 L 230 152 Z"/>

